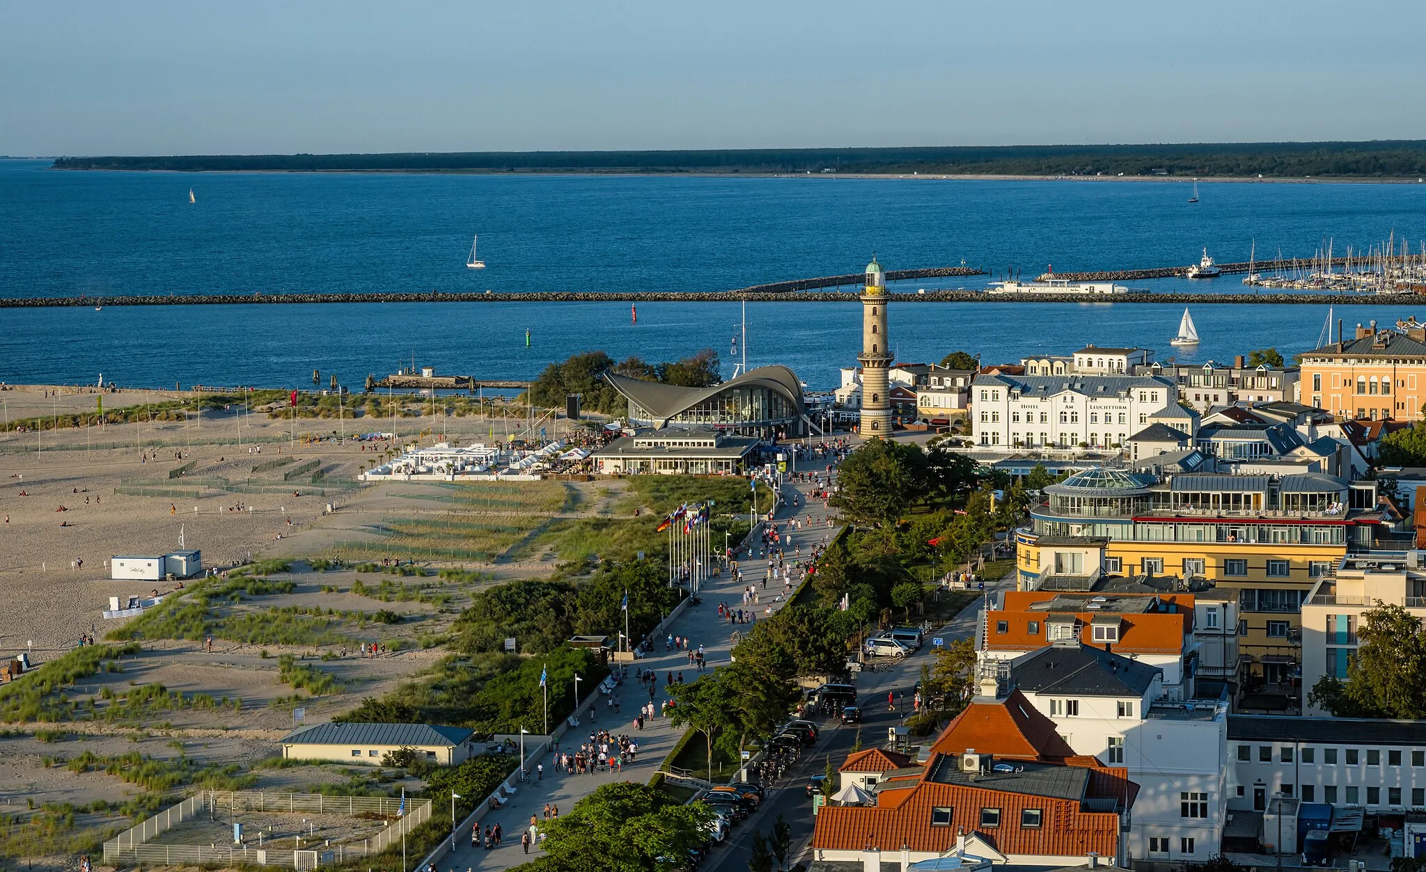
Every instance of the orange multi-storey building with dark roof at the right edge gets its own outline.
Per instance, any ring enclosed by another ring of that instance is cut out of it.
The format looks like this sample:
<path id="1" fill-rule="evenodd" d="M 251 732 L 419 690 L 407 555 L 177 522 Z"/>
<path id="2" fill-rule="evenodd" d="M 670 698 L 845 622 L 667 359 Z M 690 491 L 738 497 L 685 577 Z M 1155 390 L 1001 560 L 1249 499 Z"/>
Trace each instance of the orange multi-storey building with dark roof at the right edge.
<path id="1" fill-rule="evenodd" d="M 1420 420 L 1426 402 L 1426 326 L 1356 325 L 1356 336 L 1302 356 L 1302 402 L 1338 419 Z"/>

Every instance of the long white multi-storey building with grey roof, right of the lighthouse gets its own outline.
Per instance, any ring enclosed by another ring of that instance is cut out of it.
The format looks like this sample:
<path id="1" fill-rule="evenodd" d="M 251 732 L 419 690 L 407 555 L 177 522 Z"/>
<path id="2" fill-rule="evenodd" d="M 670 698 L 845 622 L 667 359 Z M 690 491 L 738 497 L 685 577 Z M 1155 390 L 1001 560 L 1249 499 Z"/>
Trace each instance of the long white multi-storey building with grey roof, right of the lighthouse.
<path id="1" fill-rule="evenodd" d="M 1176 400 L 1178 388 L 1152 376 L 980 375 L 973 435 L 981 446 L 1121 447 Z"/>

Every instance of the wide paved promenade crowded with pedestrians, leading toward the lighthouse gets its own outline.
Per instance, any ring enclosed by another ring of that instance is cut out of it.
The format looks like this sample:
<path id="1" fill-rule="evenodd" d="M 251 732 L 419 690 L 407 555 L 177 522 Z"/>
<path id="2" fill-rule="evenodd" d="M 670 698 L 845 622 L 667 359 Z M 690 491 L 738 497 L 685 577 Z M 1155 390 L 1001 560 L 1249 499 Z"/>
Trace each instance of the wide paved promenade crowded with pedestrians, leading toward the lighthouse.
<path id="1" fill-rule="evenodd" d="M 824 469 L 826 462 L 813 466 L 804 464 L 803 469 Z M 793 544 L 801 546 L 803 556 L 810 550 L 809 546 L 816 546 L 820 543 L 830 541 L 833 534 L 837 531 L 836 527 L 827 527 L 827 512 L 823 509 L 820 500 L 813 500 L 809 506 L 806 496 L 799 487 L 786 486 L 783 489 L 784 496 L 791 496 L 797 493 L 797 506 L 784 507 L 777 513 L 777 520 L 783 521 L 787 519 L 797 519 L 806 523 L 806 527 L 800 531 L 793 531 Z M 786 530 L 784 530 L 786 533 Z M 790 549 L 787 553 L 791 553 Z M 743 563 L 743 577 L 744 584 L 756 584 L 761 580 L 763 569 L 757 567 L 757 561 Z M 756 577 L 754 577 L 756 571 Z M 702 606 L 690 606 L 686 608 L 673 624 L 669 627 L 669 633 L 673 635 L 687 635 L 692 640 L 692 647 L 697 648 L 703 645 L 704 655 L 707 658 L 707 667 L 714 668 L 727 663 L 729 648 L 732 647 L 733 631 L 747 631 L 750 627 L 746 624 L 729 624 L 727 621 L 719 618 L 717 606 L 719 603 L 727 603 L 737 608 L 743 603 L 742 597 L 743 586 L 737 583 L 736 578 L 729 577 L 724 573 L 719 578 L 710 580 L 703 586 L 700 596 L 703 597 Z M 776 597 L 776 591 L 769 586 L 767 591 L 761 591 L 761 606 L 769 603 L 769 598 Z M 759 606 L 759 608 L 761 608 Z M 780 608 L 783 603 L 774 603 L 776 608 Z M 655 705 L 660 705 L 667 695 L 663 692 L 663 675 L 667 673 L 683 673 L 684 681 L 693 681 L 697 678 L 697 670 L 689 665 L 689 657 L 686 651 L 663 651 L 663 644 L 660 643 L 655 654 L 639 660 L 637 667 L 653 668 L 659 675 L 659 691 L 655 698 Z M 653 772 L 657 771 L 659 765 L 665 761 L 673 745 L 683 735 L 682 730 L 673 730 L 669 722 L 663 718 L 655 718 L 649 725 L 645 727 L 643 732 L 637 732 L 633 728 L 633 718 L 639 712 L 639 707 L 649 701 L 647 691 L 642 690 L 642 685 L 629 680 L 615 691 L 615 698 L 619 700 L 622 705 L 622 712 L 617 717 L 607 714 L 603 700 L 596 701 L 599 714 L 595 720 L 585 718 L 579 728 L 570 728 L 565 737 L 560 739 L 559 747 L 565 751 L 573 751 L 579 747 L 582 741 L 588 739 L 588 734 L 592 730 L 610 730 L 616 735 L 623 732 L 635 738 L 639 742 L 637 762 L 625 767 L 623 772 L 599 772 L 595 775 L 559 775 L 553 772 L 550 764 L 552 754 L 545 754 L 540 762 L 545 764 L 545 778 L 543 781 L 536 781 L 535 775 L 530 775 L 530 781 L 525 787 L 519 788 L 515 799 L 509 802 L 505 808 L 493 812 L 488 812 L 481 819 L 481 826 L 486 824 L 499 824 L 503 831 L 503 845 L 486 851 L 483 848 L 471 848 L 471 831 L 462 829 L 456 834 L 456 852 L 455 855 L 446 853 L 442 856 L 436 866 L 441 871 L 456 869 L 463 872 L 465 869 L 508 869 L 516 866 L 529 856 L 520 849 L 520 832 L 529 828 L 530 815 L 538 819 L 543 818 L 543 808 L 546 804 L 558 805 L 560 814 L 569 812 L 575 806 L 575 802 L 583 799 L 592 794 L 596 788 L 605 784 L 615 784 L 620 781 L 633 781 L 640 784 L 647 784 Z M 530 764 L 533 765 L 533 762 Z M 530 856 L 536 851 L 530 849 Z M 412 862 L 419 862 L 419 858 Z"/>

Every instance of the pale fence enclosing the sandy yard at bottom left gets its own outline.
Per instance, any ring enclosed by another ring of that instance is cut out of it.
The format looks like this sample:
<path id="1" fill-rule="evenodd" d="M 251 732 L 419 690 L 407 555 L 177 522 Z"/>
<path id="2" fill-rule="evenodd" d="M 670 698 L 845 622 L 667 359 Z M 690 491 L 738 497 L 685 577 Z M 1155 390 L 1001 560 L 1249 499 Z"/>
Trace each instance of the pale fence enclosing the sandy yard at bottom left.
<path id="1" fill-rule="evenodd" d="M 327 815 L 375 814 L 396 816 L 401 799 L 389 796 L 325 796 L 322 794 L 267 794 L 255 791 L 204 791 L 171 805 L 157 815 L 131 826 L 104 842 L 104 861 L 134 863 L 252 863 L 258 866 L 291 866 L 315 869 L 319 862 L 341 862 L 347 853 L 371 856 L 401 844 L 401 838 L 431 818 L 429 799 L 406 799 L 406 812 L 396 822 L 361 845 L 341 845 L 322 851 L 271 849 L 252 845 L 151 845 L 150 842 L 184 821 L 211 814 L 220 808 L 257 812 L 307 812 Z"/>

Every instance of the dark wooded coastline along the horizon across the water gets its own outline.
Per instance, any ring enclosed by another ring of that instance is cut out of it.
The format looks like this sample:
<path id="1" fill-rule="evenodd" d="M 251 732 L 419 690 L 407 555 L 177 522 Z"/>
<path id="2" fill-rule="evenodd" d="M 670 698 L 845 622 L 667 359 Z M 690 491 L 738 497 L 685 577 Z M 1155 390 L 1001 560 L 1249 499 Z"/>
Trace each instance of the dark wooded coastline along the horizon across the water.
<path id="1" fill-rule="evenodd" d="M 1353 177 L 1426 175 L 1426 140 L 937 145 L 684 151 L 469 151 L 61 157 L 57 170 L 348 172 L 851 172 L 974 175 Z"/>

